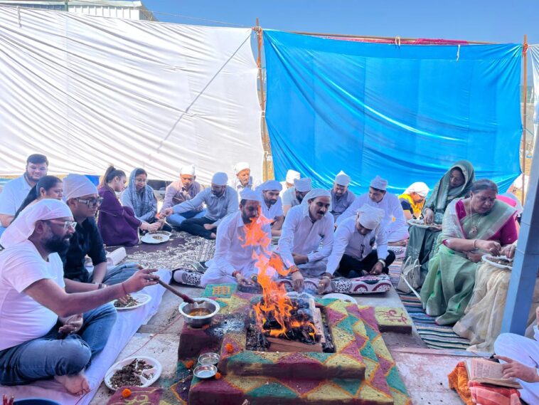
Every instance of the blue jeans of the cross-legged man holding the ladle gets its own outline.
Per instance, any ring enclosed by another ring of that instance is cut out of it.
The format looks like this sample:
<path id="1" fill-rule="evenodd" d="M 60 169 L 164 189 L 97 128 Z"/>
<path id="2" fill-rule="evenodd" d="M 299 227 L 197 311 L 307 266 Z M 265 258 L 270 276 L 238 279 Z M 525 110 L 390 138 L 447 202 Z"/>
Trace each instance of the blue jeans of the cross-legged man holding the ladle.
<path id="1" fill-rule="evenodd" d="M 114 305 L 105 304 L 85 312 L 77 333 L 58 333 L 58 323 L 43 337 L 0 350 L 0 384 L 21 385 L 78 374 L 107 344 L 116 315 Z"/>

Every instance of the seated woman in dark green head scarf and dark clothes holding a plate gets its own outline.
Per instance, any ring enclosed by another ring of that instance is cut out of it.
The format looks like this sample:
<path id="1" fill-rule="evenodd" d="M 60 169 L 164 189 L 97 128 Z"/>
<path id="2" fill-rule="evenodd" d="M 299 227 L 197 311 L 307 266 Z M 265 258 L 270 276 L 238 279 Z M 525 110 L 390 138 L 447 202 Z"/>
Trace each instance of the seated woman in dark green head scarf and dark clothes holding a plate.
<path id="1" fill-rule="evenodd" d="M 471 184 L 475 181 L 474 167 L 467 160 L 455 163 L 451 169 L 434 186 L 432 194 L 423 207 L 425 223 L 440 225 L 444 212 L 450 202 L 469 193 Z M 429 260 L 434 254 L 434 245 L 440 231 L 436 228 L 410 227 L 410 238 L 406 248 L 405 259 L 416 259 L 421 265 L 420 285 L 422 285 L 429 271 Z"/>

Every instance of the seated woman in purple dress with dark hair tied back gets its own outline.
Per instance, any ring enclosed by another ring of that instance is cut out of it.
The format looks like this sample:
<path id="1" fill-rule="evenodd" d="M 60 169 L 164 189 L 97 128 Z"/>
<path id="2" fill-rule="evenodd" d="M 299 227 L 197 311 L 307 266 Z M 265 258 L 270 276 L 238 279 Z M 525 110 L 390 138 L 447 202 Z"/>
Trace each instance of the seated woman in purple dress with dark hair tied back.
<path id="1" fill-rule="evenodd" d="M 142 231 L 157 231 L 159 223 L 140 221 L 129 206 L 122 206 L 115 193 L 122 192 L 127 182 L 122 170 L 110 166 L 101 181 L 99 195 L 103 199 L 99 208 L 97 228 L 103 243 L 108 246 L 134 246 L 139 243 L 139 228 Z"/>

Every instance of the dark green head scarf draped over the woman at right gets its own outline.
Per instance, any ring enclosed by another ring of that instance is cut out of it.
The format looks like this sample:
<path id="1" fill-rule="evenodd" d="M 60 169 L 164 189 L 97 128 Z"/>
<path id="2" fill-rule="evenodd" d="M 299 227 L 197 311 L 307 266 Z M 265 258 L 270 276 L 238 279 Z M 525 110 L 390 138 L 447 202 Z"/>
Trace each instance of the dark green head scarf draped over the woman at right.
<path id="1" fill-rule="evenodd" d="M 449 177 L 451 177 L 451 171 L 456 168 L 461 169 L 464 174 L 464 184 L 454 189 L 449 189 Z M 444 212 L 451 201 L 457 197 L 464 197 L 469 193 L 471 184 L 475 182 L 474 166 L 467 160 L 460 160 L 455 163 L 451 169 L 449 169 L 442 179 L 432 189 L 429 199 L 425 203 L 425 208 L 432 209 L 434 211 L 434 222 L 442 223 L 444 219 Z"/>

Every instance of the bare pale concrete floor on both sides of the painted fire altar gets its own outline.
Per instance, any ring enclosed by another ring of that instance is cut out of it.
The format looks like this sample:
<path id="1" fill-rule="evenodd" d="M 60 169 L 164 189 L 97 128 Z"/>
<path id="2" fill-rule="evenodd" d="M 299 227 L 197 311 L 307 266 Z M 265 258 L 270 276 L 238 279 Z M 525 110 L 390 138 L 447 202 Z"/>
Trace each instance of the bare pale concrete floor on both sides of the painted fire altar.
<path id="1" fill-rule="evenodd" d="M 198 297 L 203 293 L 201 288 L 191 288 L 172 283 L 182 293 Z M 361 305 L 403 307 L 397 292 L 392 288 L 388 293 L 358 295 L 356 300 Z M 139 328 L 139 331 L 119 354 L 118 359 L 134 354 L 154 357 L 161 362 L 163 374 L 161 378 L 173 377 L 176 369 L 178 340 L 183 319 L 179 316 L 178 305 L 181 300 L 166 291 L 159 311 L 151 320 Z M 412 335 L 384 332 L 383 339 L 397 362 L 403 381 L 407 386 L 412 401 L 417 405 L 460 404 L 457 394 L 447 385 L 447 374 L 454 369 L 466 352 L 427 349 L 417 331 Z M 107 403 L 112 392 L 105 384 L 91 404 Z"/>

